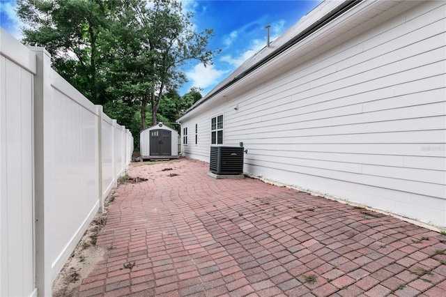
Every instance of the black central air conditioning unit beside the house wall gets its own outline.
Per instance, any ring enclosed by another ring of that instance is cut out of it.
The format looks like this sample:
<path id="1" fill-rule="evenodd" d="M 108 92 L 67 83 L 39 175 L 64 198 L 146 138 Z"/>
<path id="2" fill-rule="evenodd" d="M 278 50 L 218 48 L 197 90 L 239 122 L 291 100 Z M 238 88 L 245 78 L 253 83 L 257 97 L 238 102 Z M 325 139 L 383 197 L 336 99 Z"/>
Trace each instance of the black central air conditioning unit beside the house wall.
<path id="1" fill-rule="evenodd" d="M 210 146 L 210 172 L 243 174 L 243 153 L 241 146 Z"/>

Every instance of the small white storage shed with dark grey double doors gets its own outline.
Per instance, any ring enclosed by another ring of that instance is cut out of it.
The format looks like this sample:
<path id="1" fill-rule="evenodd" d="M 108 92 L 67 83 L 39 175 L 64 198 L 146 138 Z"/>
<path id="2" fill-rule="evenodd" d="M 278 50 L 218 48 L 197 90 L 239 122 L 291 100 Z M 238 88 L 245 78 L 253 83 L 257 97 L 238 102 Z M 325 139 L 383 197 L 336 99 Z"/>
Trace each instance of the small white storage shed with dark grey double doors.
<path id="1" fill-rule="evenodd" d="M 178 132 L 163 123 L 141 131 L 141 159 L 178 158 Z"/>

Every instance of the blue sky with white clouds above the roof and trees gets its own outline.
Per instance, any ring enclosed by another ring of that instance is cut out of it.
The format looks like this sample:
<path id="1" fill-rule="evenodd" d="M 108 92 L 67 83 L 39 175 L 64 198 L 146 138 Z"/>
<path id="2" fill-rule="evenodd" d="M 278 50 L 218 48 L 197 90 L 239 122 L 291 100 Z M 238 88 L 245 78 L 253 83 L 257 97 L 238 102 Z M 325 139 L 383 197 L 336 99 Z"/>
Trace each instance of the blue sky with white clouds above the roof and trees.
<path id="1" fill-rule="evenodd" d="M 194 13 L 192 22 L 197 31 L 214 29 L 210 49 L 221 49 L 214 64 L 203 67 L 197 61 L 183 69 L 189 82 L 178 90 L 180 95 L 192 86 L 205 95 L 233 72 L 243 61 L 266 45 L 266 28 L 270 24 L 270 40 L 284 33 L 321 0 L 183 0 L 183 9 Z M 21 38 L 20 22 L 15 15 L 16 2 L 0 0 L 0 24 L 3 29 Z"/>

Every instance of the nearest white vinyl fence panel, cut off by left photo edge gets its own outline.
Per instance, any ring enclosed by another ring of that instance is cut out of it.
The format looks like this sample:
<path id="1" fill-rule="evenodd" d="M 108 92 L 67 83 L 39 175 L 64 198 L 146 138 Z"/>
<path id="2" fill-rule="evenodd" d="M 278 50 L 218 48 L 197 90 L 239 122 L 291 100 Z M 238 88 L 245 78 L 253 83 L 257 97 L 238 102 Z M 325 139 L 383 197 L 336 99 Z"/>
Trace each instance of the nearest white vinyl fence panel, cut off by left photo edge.
<path id="1" fill-rule="evenodd" d="M 33 76 L 10 36 L 0 47 L 0 296 L 36 296 L 33 252 Z M 19 59 L 14 59 L 18 56 Z"/>

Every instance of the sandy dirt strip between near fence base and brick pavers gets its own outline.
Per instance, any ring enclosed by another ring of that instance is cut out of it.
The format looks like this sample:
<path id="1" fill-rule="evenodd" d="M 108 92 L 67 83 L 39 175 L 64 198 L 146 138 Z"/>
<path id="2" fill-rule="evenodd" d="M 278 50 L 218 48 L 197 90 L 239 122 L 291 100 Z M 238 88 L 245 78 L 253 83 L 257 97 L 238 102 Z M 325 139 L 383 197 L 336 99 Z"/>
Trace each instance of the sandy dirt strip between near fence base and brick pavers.
<path id="1" fill-rule="evenodd" d="M 52 296 L 78 296 L 82 280 L 89 275 L 104 257 L 104 250 L 96 245 L 100 229 L 107 221 L 107 208 L 114 200 L 114 192 L 105 200 L 105 213 L 97 213 L 89 228 L 66 261 L 61 272 L 52 284 Z"/>

